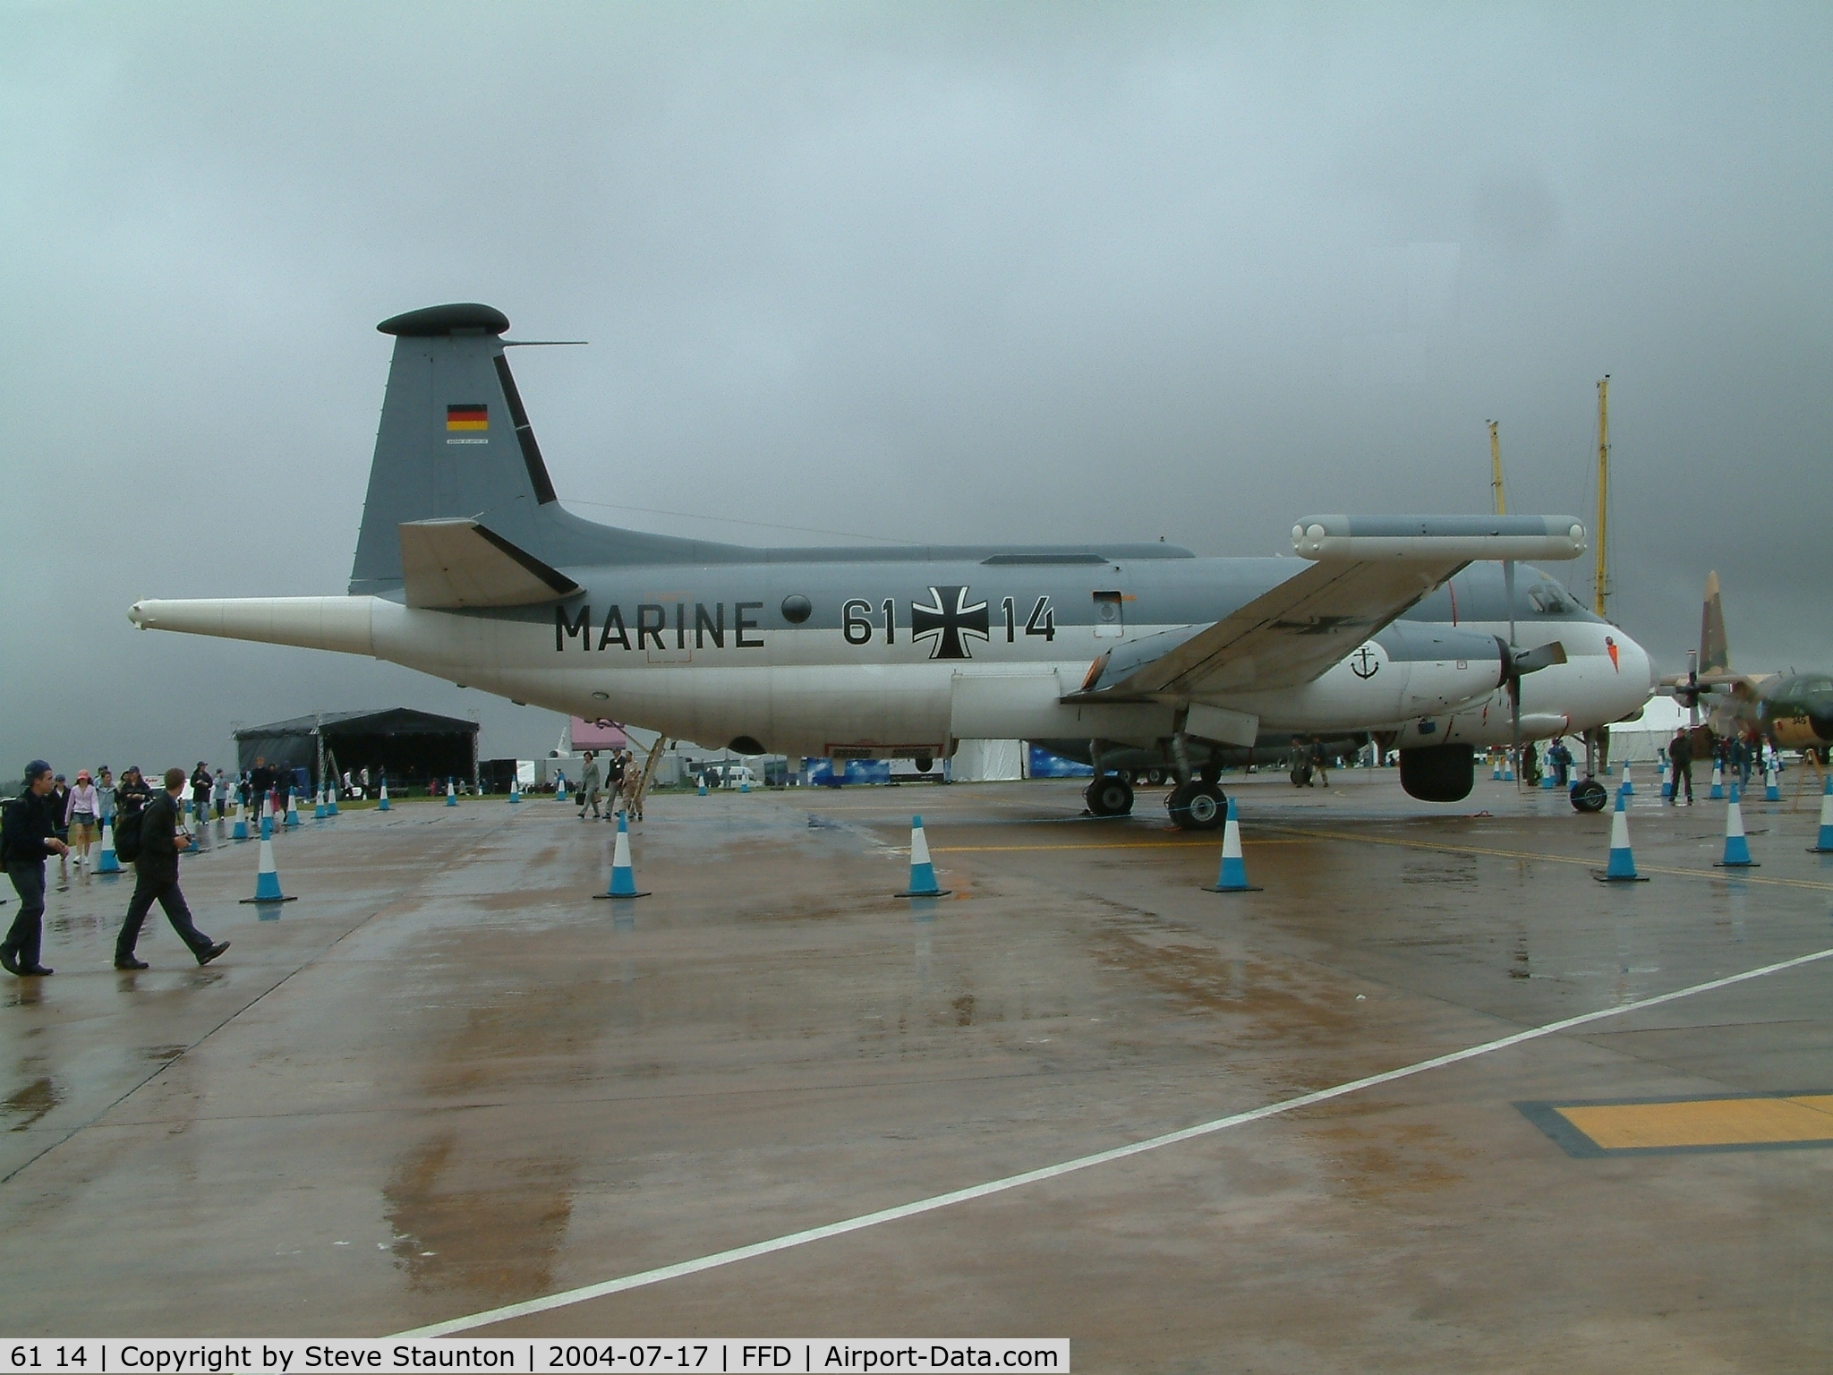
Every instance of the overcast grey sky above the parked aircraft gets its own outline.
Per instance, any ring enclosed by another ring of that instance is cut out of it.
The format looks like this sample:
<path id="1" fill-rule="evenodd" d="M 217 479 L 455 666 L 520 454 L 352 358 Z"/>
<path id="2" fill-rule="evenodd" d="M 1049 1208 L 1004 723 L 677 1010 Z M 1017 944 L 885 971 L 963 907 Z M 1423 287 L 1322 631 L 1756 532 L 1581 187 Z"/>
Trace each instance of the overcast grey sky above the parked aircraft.
<path id="1" fill-rule="evenodd" d="M 1824 6 L 0 6 L 0 768 L 561 719 L 137 632 L 341 592 L 390 341 L 486 301 L 563 500 L 744 543 L 1593 517 L 1685 667 L 1833 666 Z M 588 502 L 682 512 L 653 515 Z M 1567 581 L 1589 594 L 1587 565 Z"/>

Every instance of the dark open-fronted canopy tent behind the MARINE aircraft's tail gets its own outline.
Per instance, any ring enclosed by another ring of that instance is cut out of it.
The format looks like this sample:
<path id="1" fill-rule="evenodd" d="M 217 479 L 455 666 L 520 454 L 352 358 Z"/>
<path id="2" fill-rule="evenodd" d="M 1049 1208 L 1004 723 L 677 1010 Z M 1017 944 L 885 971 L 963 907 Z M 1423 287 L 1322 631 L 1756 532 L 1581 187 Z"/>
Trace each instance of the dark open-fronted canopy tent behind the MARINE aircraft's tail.
<path id="1" fill-rule="evenodd" d="M 477 722 L 436 717 L 398 706 L 387 711 L 326 711 L 317 717 L 275 720 L 235 733 L 236 761 L 253 768 L 260 755 L 269 764 L 302 768 L 319 785 L 319 733 L 324 737 L 326 770 L 368 770 L 378 783 L 407 786 L 427 779 L 477 783 Z"/>

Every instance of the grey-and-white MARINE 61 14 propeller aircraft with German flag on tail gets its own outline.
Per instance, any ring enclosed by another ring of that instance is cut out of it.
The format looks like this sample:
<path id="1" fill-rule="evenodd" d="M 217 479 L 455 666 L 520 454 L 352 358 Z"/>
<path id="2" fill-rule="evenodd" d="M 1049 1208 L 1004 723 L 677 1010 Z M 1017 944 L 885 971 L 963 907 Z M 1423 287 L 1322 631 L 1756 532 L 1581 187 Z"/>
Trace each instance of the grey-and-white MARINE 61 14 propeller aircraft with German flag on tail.
<path id="1" fill-rule="evenodd" d="M 1278 733 L 1373 732 L 1415 798 L 1470 792 L 1472 746 L 1617 720 L 1642 649 L 1518 559 L 1569 517 L 1307 517 L 1300 559 L 1151 544 L 744 548 L 563 510 L 480 304 L 378 326 L 394 361 L 348 596 L 139 601 L 136 625 L 372 654 L 577 717 L 832 759 L 964 739 L 1171 763 L 1173 821 L 1219 823 L 1217 763 Z M 1501 566 L 1494 563 L 1501 561 Z"/>

